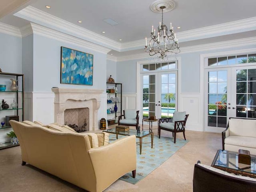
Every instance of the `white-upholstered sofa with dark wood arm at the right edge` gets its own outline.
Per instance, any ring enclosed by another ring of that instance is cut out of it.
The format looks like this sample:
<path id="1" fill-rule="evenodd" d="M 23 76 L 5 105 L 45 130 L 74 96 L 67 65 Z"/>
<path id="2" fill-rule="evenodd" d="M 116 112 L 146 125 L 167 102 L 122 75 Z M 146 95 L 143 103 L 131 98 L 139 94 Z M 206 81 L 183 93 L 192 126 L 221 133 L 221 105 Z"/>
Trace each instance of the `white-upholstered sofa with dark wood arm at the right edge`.
<path id="1" fill-rule="evenodd" d="M 230 118 L 222 132 L 222 149 L 235 152 L 244 149 L 256 155 L 256 120 Z"/>

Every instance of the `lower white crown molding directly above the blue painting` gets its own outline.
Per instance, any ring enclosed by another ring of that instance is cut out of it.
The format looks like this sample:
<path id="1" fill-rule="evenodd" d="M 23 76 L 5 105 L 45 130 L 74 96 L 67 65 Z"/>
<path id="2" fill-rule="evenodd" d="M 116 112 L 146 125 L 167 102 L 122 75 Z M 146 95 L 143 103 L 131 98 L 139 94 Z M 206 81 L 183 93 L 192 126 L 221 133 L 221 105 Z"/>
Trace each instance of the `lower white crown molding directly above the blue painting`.
<path id="1" fill-rule="evenodd" d="M 34 24 L 31 23 L 31 27 L 33 30 L 33 34 L 38 34 L 40 36 L 44 36 L 47 38 L 51 38 L 51 39 L 56 39 L 62 42 L 67 42 L 70 44 L 74 44 L 76 46 L 81 46 L 84 47 L 86 49 L 90 49 L 96 52 L 101 52 L 104 54 L 107 54 L 108 52 L 110 52 L 111 49 L 88 42 L 86 40 L 82 40 L 80 38 L 76 38 L 73 36 L 70 36 L 68 34 L 64 34 L 62 32 L 58 32 L 49 28 L 46 28 L 44 26 L 40 26 L 38 24 Z"/>

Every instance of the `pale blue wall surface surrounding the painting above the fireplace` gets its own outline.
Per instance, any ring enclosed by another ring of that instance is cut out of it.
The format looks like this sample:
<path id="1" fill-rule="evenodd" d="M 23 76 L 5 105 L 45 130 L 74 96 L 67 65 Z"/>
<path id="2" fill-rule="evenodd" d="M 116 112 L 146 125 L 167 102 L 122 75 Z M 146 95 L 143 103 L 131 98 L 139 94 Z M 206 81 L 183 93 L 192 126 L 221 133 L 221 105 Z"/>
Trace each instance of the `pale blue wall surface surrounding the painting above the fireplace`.
<path id="1" fill-rule="evenodd" d="M 93 85 L 60 84 L 60 47 L 93 54 Z M 34 34 L 33 91 L 51 92 L 52 87 L 106 89 L 106 54 Z"/>

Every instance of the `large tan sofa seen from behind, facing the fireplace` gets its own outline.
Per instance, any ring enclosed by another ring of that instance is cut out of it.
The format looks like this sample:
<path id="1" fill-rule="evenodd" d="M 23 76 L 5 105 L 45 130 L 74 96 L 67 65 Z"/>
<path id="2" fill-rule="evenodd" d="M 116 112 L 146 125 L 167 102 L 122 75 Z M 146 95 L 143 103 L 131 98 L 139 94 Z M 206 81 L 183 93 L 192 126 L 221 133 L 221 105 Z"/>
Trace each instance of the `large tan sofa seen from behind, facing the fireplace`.
<path id="1" fill-rule="evenodd" d="M 135 177 L 135 136 L 108 144 L 104 132 L 81 134 L 28 121 L 10 124 L 20 142 L 22 165 L 29 163 L 90 192 L 103 191 L 128 172 Z"/>

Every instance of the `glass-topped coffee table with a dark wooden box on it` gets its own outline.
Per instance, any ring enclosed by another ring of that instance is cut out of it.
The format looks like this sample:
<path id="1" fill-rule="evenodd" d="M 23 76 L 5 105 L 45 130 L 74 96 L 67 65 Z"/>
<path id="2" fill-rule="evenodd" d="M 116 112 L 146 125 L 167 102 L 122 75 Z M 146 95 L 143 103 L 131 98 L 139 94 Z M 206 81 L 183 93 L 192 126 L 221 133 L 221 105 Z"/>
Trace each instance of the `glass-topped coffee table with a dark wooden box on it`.
<path id="1" fill-rule="evenodd" d="M 240 164 L 238 152 L 218 150 L 211 166 L 230 173 L 256 178 L 256 156 L 250 156 L 250 165 Z"/>

